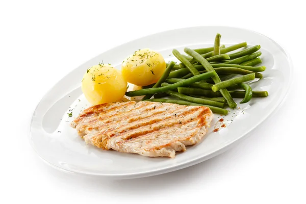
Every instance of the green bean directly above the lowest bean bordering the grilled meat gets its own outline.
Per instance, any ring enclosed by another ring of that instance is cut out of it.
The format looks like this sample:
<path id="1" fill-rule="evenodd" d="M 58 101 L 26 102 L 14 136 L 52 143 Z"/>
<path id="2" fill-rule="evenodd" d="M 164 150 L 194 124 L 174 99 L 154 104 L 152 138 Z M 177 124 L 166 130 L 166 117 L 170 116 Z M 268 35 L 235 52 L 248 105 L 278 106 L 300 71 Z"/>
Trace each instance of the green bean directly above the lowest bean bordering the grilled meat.
<path id="1" fill-rule="evenodd" d="M 170 96 L 174 96 L 177 97 L 181 100 L 186 100 L 189 101 L 191 103 L 195 103 L 195 104 L 203 104 L 203 105 L 209 105 L 209 106 L 214 106 L 214 107 L 219 107 L 219 108 L 223 108 L 224 104 L 221 102 L 217 102 L 214 100 L 207 100 L 207 99 L 203 99 L 203 98 L 195 98 L 195 97 L 191 97 L 182 93 L 177 93 L 175 91 L 166 91 L 167 94 L 169 94 Z"/>

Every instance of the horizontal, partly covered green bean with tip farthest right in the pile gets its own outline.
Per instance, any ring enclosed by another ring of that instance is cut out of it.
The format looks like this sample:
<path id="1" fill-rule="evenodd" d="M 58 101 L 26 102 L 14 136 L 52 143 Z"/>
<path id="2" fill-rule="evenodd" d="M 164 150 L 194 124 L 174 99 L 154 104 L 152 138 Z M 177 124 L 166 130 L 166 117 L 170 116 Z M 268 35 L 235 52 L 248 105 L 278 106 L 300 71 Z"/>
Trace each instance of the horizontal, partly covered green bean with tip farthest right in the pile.
<path id="1" fill-rule="evenodd" d="M 207 97 L 220 97 L 222 94 L 217 91 L 205 90 L 200 88 L 189 88 L 189 87 L 179 87 L 177 88 L 179 93 L 188 95 L 201 95 Z M 244 98 L 245 91 L 228 91 L 233 98 Z M 252 97 L 267 97 L 269 94 L 267 91 L 252 91 Z"/>

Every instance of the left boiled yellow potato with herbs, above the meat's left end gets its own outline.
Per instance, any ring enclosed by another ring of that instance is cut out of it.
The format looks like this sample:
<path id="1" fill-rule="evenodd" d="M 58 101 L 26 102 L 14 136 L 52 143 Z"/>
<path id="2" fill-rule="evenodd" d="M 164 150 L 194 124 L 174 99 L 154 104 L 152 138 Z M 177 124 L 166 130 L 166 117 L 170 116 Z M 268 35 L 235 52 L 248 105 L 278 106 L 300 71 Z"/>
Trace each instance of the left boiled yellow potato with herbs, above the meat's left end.
<path id="1" fill-rule="evenodd" d="M 82 80 L 82 91 L 92 105 L 119 101 L 126 91 L 121 71 L 111 65 L 99 64 L 87 69 Z"/>

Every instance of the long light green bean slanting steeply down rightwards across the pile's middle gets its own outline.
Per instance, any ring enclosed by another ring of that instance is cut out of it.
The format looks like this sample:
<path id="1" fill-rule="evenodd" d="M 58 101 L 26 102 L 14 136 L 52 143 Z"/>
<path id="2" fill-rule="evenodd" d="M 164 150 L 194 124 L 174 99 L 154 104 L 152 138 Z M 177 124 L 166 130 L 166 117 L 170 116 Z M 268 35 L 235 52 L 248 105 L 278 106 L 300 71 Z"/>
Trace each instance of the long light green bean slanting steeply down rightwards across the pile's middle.
<path id="1" fill-rule="evenodd" d="M 224 48 L 225 49 L 225 48 Z M 199 55 L 198 53 L 194 52 L 193 50 L 185 47 L 184 51 L 189 54 L 190 56 L 192 56 L 194 59 L 196 59 L 199 63 L 201 63 L 201 65 L 207 70 L 207 71 L 212 71 L 214 70 L 214 68 L 212 67 L 212 65 L 206 60 L 204 59 L 201 55 Z M 221 80 L 219 78 L 219 76 L 216 74 L 212 77 L 213 81 L 215 84 L 220 83 Z M 220 92 L 222 93 L 222 96 L 226 99 L 228 106 L 230 106 L 230 108 L 236 108 L 237 104 L 235 103 L 235 101 L 233 100 L 233 98 L 231 97 L 230 93 L 228 93 L 228 91 L 226 89 L 221 89 Z"/>

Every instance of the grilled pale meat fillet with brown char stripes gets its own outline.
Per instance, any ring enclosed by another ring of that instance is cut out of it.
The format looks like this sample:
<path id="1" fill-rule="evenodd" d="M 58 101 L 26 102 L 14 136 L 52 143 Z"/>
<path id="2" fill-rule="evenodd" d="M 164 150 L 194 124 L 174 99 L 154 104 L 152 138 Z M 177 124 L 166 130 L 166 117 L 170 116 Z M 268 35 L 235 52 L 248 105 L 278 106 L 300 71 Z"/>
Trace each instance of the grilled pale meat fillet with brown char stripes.
<path id="1" fill-rule="evenodd" d="M 204 106 L 141 101 L 108 103 L 84 110 L 71 122 L 94 146 L 146 157 L 171 157 L 198 143 L 213 118 Z"/>

